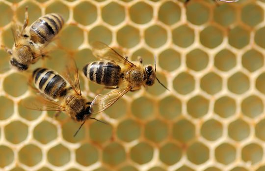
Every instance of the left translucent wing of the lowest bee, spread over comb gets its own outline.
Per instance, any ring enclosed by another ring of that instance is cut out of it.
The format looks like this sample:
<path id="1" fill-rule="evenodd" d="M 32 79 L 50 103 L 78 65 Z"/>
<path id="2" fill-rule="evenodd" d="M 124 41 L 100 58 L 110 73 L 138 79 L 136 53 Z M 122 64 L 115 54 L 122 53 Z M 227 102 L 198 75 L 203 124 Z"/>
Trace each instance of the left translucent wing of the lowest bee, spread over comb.
<path id="1" fill-rule="evenodd" d="M 23 106 L 32 110 L 65 111 L 65 107 L 42 96 L 34 96 L 30 101 L 24 102 Z"/>

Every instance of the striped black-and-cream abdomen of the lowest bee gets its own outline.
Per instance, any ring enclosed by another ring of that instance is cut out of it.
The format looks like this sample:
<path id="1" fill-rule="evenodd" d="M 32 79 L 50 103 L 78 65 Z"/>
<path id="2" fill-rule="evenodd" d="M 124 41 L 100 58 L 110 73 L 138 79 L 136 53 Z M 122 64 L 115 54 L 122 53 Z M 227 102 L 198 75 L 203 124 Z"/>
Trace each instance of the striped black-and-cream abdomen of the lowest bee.
<path id="1" fill-rule="evenodd" d="M 54 101 L 66 94 L 67 82 L 55 71 L 37 68 L 33 71 L 33 82 L 42 93 Z"/>

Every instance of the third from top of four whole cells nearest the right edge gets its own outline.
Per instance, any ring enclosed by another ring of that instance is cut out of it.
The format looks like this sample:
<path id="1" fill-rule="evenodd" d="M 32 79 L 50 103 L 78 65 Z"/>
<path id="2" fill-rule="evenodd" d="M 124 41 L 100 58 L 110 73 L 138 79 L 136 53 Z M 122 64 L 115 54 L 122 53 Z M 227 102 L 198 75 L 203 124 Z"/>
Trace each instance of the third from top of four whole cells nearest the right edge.
<path id="1" fill-rule="evenodd" d="M 255 118 L 263 113 L 263 102 L 258 96 L 249 96 L 242 101 L 241 110 L 244 115 Z"/>

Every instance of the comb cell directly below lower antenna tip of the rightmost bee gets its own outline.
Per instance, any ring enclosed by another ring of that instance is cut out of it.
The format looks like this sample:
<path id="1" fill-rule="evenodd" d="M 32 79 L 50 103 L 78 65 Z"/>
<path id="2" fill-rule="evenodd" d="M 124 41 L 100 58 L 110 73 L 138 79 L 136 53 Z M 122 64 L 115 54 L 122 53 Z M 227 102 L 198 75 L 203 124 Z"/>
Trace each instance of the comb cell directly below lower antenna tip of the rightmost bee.
<path id="1" fill-rule="evenodd" d="M 164 119 L 172 120 L 181 115 L 181 101 L 175 96 L 167 96 L 159 101 L 159 112 Z"/>

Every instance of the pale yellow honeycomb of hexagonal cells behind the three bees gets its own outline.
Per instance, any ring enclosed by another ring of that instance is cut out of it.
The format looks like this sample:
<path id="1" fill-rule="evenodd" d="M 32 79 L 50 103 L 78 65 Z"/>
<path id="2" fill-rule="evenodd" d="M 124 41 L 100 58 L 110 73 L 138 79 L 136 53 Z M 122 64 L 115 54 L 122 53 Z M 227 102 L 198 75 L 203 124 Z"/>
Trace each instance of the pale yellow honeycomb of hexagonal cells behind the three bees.
<path id="1" fill-rule="evenodd" d="M 30 71 L 8 68 L 0 50 L 1 171 L 265 171 L 265 0 L 0 0 L 0 44 L 14 41 L 11 21 L 60 13 L 66 24 L 46 60 L 64 69 L 96 60 L 93 41 L 138 56 L 158 57 L 156 83 L 129 92 L 79 123 L 29 110 Z M 81 75 L 81 74 L 80 74 Z M 80 76 L 94 97 L 101 87 Z M 121 107 L 124 107 L 121 109 Z"/>

